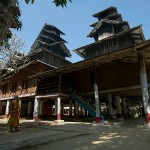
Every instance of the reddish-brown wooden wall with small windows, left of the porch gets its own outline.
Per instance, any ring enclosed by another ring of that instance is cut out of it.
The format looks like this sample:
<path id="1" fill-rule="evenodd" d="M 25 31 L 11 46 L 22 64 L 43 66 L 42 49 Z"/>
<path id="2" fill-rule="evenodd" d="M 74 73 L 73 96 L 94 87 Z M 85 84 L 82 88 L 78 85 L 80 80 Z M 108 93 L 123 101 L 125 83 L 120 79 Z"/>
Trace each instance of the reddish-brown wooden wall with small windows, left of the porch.
<path id="1" fill-rule="evenodd" d="M 19 70 L 12 77 L 4 80 L 5 83 L 0 86 L 0 98 L 12 97 L 14 96 L 14 94 L 17 94 L 19 96 L 35 93 L 37 89 L 37 77 L 30 78 L 30 76 L 38 74 L 40 72 L 45 72 L 49 69 L 50 67 L 47 65 L 36 63 Z M 15 91 L 12 88 L 14 83 L 16 83 Z M 26 84 L 26 86 L 24 84 Z M 6 93 L 3 93 L 4 86 L 7 87 Z"/>

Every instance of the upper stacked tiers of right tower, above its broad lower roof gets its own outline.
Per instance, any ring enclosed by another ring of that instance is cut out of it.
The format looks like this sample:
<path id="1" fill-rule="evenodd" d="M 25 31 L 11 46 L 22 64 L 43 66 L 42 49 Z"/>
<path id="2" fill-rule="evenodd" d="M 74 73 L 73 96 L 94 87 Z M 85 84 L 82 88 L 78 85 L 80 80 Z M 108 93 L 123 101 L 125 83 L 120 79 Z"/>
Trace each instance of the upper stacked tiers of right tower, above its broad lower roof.
<path id="1" fill-rule="evenodd" d="M 91 25 L 93 30 L 88 37 L 94 38 L 95 41 L 100 41 L 130 28 L 128 22 L 123 21 L 117 8 L 113 6 L 94 14 L 93 17 L 97 18 L 98 22 Z"/>

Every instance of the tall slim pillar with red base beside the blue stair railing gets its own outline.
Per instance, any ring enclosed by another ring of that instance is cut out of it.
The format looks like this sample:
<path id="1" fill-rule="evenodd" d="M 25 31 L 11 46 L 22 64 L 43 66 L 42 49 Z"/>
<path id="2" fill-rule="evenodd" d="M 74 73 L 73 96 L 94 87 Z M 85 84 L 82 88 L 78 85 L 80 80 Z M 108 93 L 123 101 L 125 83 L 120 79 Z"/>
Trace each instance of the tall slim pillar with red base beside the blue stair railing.
<path id="1" fill-rule="evenodd" d="M 99 104 L 96 66 L 94 66 L 94 94 L 95 94 L 95 106 L 96 106 L 96 123 L 100 123 L 100 104 Z"/>

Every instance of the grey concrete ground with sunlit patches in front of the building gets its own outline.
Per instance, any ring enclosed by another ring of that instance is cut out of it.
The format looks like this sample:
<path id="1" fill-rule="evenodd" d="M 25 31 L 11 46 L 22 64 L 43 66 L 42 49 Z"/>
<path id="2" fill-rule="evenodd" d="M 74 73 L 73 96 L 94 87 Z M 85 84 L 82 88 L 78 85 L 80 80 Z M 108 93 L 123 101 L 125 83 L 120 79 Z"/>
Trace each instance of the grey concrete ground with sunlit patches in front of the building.
<path id="1" fill-rule="evenodd" d="M 150 129 L 143 119 L 108 121 L 104 126 L 85 122 L 20 120 L 19 132 L 9 132 L 0 119 L 0 150 L 149 150 Z"/>

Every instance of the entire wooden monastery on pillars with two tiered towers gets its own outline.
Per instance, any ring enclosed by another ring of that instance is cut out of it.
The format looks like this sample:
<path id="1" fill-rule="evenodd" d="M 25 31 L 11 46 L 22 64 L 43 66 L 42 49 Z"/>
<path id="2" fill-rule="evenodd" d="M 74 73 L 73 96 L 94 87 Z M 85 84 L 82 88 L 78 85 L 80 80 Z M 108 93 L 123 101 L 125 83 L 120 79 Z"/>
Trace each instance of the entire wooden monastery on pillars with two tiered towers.
<path id="1" fill-rule="evenodd" d="M 95 42 L 74 50 L 84 58 L 77 63 L 66 59 L 71 54 L 60 37 L 64 33 L 44 25 L 28 60 L 1 71 L 0 115 L 7 116 L 9 103 L 18 95 L 22 117 L 61 121 L 90 116 L 99 123 L 103 117 L 138 115 L 150 124 L 150 40 L 141 26 L 130 28 L 116 7 L 93 17 L 98 20 L 88 37 Z"/>

